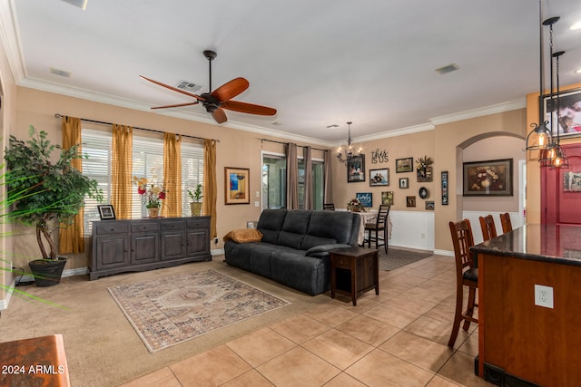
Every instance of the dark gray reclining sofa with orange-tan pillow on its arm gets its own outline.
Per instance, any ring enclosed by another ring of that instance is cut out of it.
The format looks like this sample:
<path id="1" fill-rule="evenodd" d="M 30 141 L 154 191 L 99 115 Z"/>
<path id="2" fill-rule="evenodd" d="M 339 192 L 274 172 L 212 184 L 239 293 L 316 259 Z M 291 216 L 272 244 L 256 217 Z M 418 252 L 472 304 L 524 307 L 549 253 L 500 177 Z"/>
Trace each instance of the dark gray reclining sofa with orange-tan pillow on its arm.
<path id="1" fill-rule="evenodd" d="M 348 211 L 265 209 L 260 242 L 224 244 L 231 266 L 310 295 L 330 288 L 329 251 L 357 246 L 360 217 Z"/>

